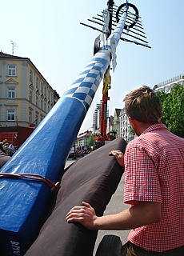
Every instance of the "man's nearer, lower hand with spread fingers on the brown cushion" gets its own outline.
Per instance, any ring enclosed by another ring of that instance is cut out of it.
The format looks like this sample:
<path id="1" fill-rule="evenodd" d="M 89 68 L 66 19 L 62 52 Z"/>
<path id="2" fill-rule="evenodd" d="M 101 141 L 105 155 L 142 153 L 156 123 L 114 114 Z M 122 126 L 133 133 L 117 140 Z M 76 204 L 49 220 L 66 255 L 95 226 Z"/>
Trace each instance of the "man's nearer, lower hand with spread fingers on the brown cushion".
<path id="1" fill-rule="evenodd" d="M 94 208 L 87 202 L 82 202 L 82 206 L 74 206 L 66 214 L 66 222 L 79 222 L 89 230 L 95 230 L 94 221 L 97 218 Z"/>

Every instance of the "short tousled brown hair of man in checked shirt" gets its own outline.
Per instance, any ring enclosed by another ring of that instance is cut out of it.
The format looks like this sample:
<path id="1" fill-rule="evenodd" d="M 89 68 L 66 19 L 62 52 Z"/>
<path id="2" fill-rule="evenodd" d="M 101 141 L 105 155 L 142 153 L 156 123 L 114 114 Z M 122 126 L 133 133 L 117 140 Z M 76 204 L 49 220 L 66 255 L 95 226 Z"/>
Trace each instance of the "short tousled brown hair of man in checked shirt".
<path id="1" fill-rule="evenodd" d="M 161 122 L 162 105 L 158 95 L 148 86 L 142 86 L 126 94 L 123 100 L 127 116 L 139 122 Z"/>

